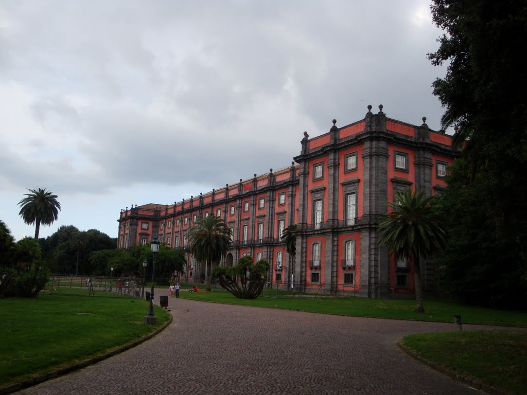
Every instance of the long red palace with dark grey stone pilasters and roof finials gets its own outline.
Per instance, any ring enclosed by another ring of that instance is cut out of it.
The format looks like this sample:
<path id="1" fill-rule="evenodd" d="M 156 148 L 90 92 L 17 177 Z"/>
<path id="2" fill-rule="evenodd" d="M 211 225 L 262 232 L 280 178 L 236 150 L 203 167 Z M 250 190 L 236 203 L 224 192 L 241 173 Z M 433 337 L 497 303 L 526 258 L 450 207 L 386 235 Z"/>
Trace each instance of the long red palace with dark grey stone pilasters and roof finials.
<path id="1" fill-rule="evenodd" d="M 248 254 L 271 263 L 269 280 L 326 292 L 356 292 L 378 297 L 413 291 L 413 268 L 395 262 L 379 245 L 377 225 L 387 201 L 411 187 L 437 195 L 445 188 L 447 167 L 458 152 L 452 137 L 423 124 L 387 118 L 383 106 L 363 120 L 309 138 L 290 167 L 173 205 L 145 204 L 122 210 L 120 248 L 148 243 L 153 236 L 187 254 L 184 280 L 200 281 L 205 266 L 196 262 L 187 232 L 201 216 L 217 215 L 233 233 L 232 248 L 221 264 L 236 264 Z M 280 240 L 297 224 L 296 259 Z M 433 290 L 434 268 L 422 265 L 425 290 Z"/>

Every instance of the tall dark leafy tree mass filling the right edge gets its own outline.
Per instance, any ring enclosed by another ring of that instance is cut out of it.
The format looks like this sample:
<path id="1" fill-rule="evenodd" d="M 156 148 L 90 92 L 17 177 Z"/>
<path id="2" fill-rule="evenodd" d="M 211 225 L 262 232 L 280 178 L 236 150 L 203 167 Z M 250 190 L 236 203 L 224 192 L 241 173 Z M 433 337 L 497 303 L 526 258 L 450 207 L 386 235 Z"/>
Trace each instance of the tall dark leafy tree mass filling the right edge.
<path id="1" fill-rule="evenodd" d="M 429 57 L 448 63 L 434 94 L 446 109 L 444 125 L 456 126 L 455 142 L 464 146 L 445 193 L 453 238 L 441 261 L 443 284 L 479 303 L 524 306 L 527 70 L 519 48 L 527 44 L 527 7 L 524 0 L 434 0 L 432 15 L 445 35 Z"/>

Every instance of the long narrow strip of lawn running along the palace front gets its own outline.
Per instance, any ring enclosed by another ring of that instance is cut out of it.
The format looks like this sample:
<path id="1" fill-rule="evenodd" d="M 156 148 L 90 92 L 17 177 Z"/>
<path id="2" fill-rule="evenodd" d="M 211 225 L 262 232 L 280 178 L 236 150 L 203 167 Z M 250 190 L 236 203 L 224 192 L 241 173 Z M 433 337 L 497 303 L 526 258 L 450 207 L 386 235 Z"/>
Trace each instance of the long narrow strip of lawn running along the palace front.
<path id="1" fill-rule="evenodd" d="M 399 320 L 454 322 L 461 314 L 463 323 L 527 327 L 527 313 L 466 306 L 455 302 L 425 300 L 426 313 L 415 310 L 415 300 L 384 300 L 365 298 L 258 298 L 237 299 L 228 292 L 181 292 L 182 298 L 207 302 L 242 304 L 274 309 L 309 311 L 314 313 L 353 315 L 356 317 L 393 318 Z"/>

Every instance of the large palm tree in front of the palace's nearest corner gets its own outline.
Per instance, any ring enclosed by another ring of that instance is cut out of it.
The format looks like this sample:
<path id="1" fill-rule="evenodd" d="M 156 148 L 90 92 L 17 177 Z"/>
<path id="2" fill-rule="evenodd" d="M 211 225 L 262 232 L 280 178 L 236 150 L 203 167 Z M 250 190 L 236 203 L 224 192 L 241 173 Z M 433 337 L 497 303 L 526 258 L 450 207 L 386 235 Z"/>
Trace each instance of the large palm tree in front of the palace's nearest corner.
<path id="1" fill-rule="evenodd" d="M 380 240 L 395 260 L 407 259 L 414 264 L 416 311 L 424 313 L 420 259 L 431 258 L 446 246 L 447 236 L 437 218 L 434 196 L 424 197 L 424 191 L 412 189 L 396 194 L 397 203 L 388 202 L 393 209 L 388 219 L 379 224 Z"/>

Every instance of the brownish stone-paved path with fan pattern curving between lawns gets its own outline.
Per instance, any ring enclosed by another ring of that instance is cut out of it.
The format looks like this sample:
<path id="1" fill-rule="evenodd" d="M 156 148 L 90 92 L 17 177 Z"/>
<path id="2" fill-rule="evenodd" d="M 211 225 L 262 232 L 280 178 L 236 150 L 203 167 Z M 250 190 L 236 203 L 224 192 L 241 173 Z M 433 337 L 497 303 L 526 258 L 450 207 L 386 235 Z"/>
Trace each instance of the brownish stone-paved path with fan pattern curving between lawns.
<path id="1" fill-rule="evenodd" d="M 448 323 L 338 317 L 172 298 L 157 337 L 18 394 L 477 395 L 407 357 L 409 333 Z M 481 328 L 463 325 L 463 330 Z M 488 327 L 486 327 L 488 328 Z"/>

